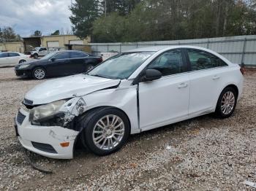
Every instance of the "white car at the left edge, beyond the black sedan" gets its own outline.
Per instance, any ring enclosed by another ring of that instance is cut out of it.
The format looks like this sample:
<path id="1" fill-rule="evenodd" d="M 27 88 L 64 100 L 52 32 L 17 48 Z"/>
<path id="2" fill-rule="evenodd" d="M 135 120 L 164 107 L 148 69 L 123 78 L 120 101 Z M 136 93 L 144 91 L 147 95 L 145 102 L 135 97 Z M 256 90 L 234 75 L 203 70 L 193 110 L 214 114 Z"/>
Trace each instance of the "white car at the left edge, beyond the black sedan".
<path id="1" fill-rule="evenodd" d="M 18 63 L 23 63 L 31 60 L 30 55 L 24 55 L 19 52 L 1 52 L 0 66 L 16 66 Z"/>

